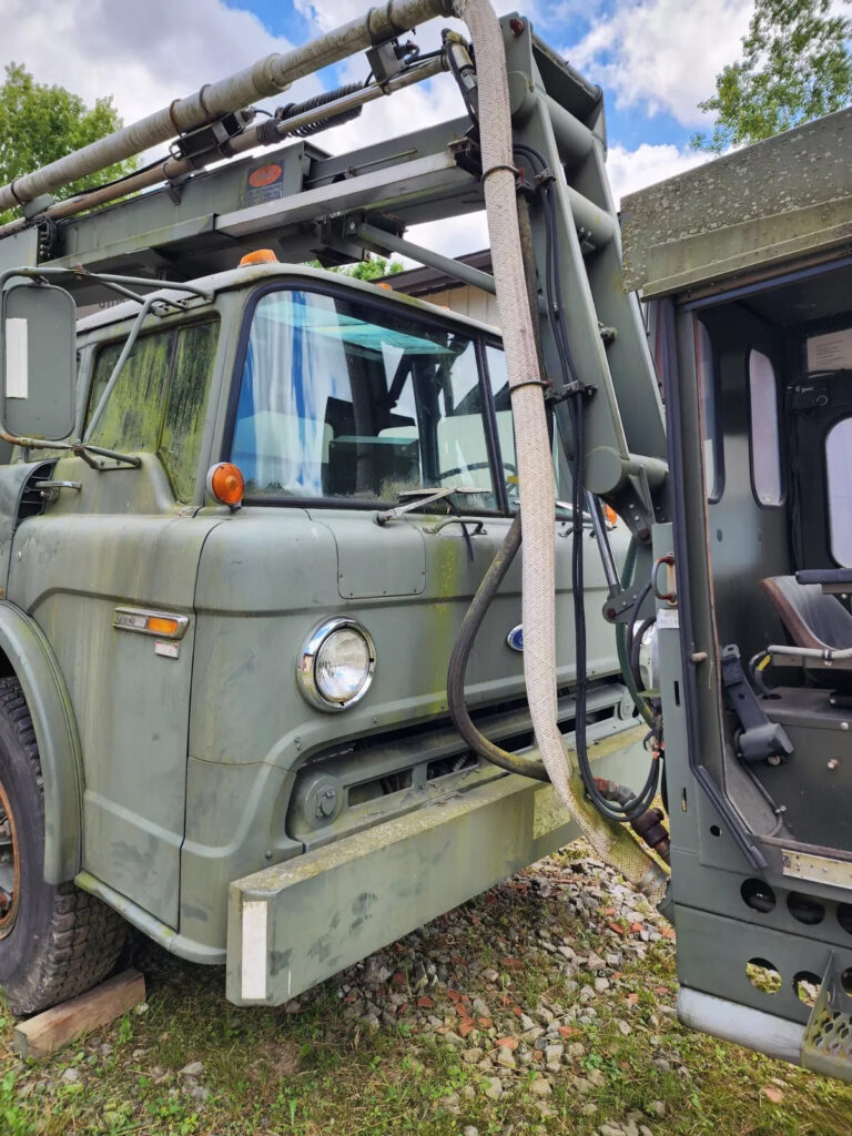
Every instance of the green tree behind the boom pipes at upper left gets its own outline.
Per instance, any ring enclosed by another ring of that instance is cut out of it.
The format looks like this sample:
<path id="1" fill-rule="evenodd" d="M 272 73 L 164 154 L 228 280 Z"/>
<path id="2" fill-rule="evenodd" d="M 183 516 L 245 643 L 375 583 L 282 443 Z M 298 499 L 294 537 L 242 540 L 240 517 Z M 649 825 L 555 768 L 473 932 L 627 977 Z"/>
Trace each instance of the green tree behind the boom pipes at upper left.
<path id="1" fill-rule="evenodd" d="M 64 158 L 123 125 L 111 97 L 86 107 L 80 95 L 64 86 L 36 83 L 23 64 L 9 64 L 6 81 L 0 84 L 0 185 Z M 85 182 L 64 186 L 55 197 L 69 198 L 85 186 L 103 185 L 135 167 L 135 159 L 119 162 L 86 177 Z M 0 224 L 14 216 L 12 210 L 1 212 Z"/>

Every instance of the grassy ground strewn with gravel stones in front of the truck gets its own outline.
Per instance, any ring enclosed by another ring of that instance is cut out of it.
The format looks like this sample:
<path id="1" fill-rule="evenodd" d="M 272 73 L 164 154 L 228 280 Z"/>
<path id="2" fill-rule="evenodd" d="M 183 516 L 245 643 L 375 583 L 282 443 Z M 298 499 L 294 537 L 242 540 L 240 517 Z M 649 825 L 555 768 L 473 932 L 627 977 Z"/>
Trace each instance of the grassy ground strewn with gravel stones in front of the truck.
<path id="1" fill-rule="evenodd" d="M 98 1035 L 0 1018 L 0 1136 L 847 1136 L 847 1086 L 679 1026 L 674 939 L 578 842 L 277 1009 L 141 941 Z"/>

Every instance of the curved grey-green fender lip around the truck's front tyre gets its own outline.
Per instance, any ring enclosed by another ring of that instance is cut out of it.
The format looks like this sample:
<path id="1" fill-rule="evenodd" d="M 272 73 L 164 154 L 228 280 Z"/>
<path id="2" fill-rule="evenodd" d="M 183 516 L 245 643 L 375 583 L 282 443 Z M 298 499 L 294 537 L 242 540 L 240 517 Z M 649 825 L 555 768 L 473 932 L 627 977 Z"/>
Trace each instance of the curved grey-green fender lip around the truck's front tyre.
<path id="1" fill-rule="evenodd" d="M 50 643 L 20 608 L 0 601 L 0 652 L 33 719 L 44 782 L 44 879 L 61 884 L 81 869 L 83 761 L 68 691 Z"/>

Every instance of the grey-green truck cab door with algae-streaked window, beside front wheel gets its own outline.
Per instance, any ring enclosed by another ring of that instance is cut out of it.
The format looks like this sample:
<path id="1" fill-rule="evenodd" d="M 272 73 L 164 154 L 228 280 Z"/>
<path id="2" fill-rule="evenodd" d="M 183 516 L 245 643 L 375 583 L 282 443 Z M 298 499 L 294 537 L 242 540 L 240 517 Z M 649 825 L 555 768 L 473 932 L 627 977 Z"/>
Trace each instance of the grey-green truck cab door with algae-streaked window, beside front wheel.
<path id="1" fill-rule="evenodd" d="M 15 535 L 9 600 L 47 636 L 64 675 L 84 767 L 83 868 L 177 926 L 192 678 L 200 441 L 218 325 L 143 334 L 93 443 L 139 468 L 60 460 L 58 491 Z M 120 351 L 100 348 L 89 414 Z"/>

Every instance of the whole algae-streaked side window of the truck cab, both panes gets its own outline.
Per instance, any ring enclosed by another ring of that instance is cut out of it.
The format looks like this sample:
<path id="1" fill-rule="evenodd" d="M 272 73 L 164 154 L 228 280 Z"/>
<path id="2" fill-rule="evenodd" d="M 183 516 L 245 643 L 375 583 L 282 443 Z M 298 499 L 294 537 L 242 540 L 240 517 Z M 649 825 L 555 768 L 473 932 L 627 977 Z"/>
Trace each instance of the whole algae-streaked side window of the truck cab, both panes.
<path id="1" fill-rule="evenodd" d="M 218 324 L 141 336 L 122 368 L 91 441 L 110 450 L 159 453 L 178 501 L 191 501 L 206 423 Z M 86 421 L 107 387 L 122 342 L 94 362 Z"/>

